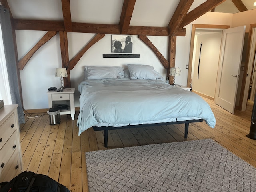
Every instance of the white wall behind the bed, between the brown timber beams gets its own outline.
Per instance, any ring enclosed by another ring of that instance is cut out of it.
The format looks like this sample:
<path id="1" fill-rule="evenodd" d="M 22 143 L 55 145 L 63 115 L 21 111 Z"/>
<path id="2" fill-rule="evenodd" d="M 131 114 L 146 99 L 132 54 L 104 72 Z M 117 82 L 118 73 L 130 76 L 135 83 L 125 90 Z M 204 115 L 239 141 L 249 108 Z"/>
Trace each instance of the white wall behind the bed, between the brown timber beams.
<path id="1" fill-rule="evenodd" d="M 22 58 L 46 32 L 17 30 L 18 58 Z M 95 34 L 68 33 L 69 58 L 72 59 Z M 149 36 L 152 43 L 167 59 L 168 38 Z M 102 54 L 111 54 L 111 35 L 106 34 L 94 44 L 73 70 L 70 70 L 71 86 L 76 88 L 75 106 L 79 106 L 80 93 L 78 84 L 84 79 L 84 66 L 126 66 L 126 64 L 149 64 L 166 79 L 166 70 L 144 42 L 138 36 L 133 36 L 133 54 L 140 54 L 140 58 L 103 58 Z M 20 71 L 22 95 L 25 109 L 48 108 L 46 92 L 51 86 L 60 87 L 60 78 L 55 77 L 55 68 L 60 68 L 60 41 L 57 34 L 44 44 L 29 60 L 25 68 Z"/>

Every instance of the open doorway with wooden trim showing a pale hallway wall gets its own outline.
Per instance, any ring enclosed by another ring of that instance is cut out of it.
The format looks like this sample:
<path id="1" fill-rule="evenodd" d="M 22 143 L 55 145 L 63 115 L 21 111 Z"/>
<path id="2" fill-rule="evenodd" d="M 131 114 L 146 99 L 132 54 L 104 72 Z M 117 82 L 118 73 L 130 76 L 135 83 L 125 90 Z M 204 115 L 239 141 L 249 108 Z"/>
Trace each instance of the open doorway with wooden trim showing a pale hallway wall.
<path id="1" fill-rule="evenodd" d="M 194 92 L 211 100 L 214 100 L 216 88 L 222 30 L 228 28 L 230 26 L 227 25 L 192 25 L 187 86 L 192 86 Z M 208 37 L 210 38 L 207 40 Z M 202 52 L 207 54 L 203 56 Z M 208 54 L 209 52 L 210 54 Z M 202 60 L 208 60 L 210 64 L 200 65 Z M 198 67 L 195 69 L 195 64 L 199 65 L 199 70 Z M 202 73 L 202 71 L 206 72 Z M 202 79 L 204 80 L 202 81 Z"/>

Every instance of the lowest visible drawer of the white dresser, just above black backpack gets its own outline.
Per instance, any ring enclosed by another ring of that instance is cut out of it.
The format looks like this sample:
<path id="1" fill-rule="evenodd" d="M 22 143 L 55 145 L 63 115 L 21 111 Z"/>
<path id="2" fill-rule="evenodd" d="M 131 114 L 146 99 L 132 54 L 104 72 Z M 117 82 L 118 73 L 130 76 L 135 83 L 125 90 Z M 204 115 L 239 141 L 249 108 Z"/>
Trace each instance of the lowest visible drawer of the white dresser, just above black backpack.
<path id="1" fill-rule="evenodd" d="M 0 182 L 10 181 L 22 172 L 20 155 L 18 150 L 14 152 L 10 160 L 3 168 L 0 168 Z"/>

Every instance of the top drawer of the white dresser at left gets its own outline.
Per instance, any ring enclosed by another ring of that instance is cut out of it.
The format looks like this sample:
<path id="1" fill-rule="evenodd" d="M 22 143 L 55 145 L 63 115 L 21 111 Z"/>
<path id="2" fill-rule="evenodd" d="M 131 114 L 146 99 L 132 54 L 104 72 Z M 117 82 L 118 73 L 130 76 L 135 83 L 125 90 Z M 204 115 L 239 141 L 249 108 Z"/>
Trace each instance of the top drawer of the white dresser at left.
<path id="1" fill-rule="evenodd" d="M 0 150 L 16 130 L 15 116 L 12 114 L 2 125 L 0 125 Z"/>

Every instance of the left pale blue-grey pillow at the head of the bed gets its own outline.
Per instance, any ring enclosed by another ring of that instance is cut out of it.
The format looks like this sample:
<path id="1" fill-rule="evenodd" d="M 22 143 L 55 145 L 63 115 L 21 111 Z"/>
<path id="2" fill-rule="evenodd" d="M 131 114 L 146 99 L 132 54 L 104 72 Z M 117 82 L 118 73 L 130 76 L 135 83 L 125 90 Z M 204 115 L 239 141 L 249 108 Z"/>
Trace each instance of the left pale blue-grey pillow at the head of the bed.
<path id="1" fill-rule="evenodd" d="M 85 72 L 85 80 L 124 78 L 124 68 L 123 67 L 86 66 L 84 68 L 84 72 Z"/>

